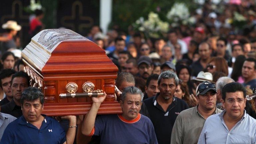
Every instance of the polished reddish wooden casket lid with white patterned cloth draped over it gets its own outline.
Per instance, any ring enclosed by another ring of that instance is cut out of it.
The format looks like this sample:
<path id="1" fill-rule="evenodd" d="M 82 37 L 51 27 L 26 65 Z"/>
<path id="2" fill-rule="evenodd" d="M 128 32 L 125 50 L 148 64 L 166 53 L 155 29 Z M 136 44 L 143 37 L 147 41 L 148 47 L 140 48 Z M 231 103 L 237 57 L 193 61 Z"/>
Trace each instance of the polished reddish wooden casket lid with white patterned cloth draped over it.
<path id="1" fill-rule="evenodd" d="M 21 55 L 41 74 L 118 71 L 103 49 L 69 29 L 42 30 Z"/>

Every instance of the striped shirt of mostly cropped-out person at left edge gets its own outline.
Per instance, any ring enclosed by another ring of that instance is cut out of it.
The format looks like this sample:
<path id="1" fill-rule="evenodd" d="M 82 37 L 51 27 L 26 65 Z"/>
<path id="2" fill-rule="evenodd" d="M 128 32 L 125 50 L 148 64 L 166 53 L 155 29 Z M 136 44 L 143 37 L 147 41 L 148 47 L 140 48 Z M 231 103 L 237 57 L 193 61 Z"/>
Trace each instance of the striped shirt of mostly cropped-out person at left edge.
<path id="1" fill-rule="evenodd" d="M 17 119 L 14 116 L 0 112 L 0 141 L 3 136 L 4 130 L 9 123 Z"/>

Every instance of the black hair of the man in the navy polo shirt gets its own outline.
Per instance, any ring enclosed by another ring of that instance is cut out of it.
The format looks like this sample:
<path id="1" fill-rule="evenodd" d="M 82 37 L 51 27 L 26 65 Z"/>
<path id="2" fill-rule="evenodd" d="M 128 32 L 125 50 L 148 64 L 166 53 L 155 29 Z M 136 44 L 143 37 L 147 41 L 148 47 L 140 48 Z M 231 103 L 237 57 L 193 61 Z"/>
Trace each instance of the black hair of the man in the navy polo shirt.
<path id="1" fill-rule="evenodd" d="M 42 94 L 41 90 L 36 87 L 28 87 L 21 94 L 21 106 L 23 106 L 24 101 L 35 101 L 39 99 L 42 106 L 44 105 L 44 94 Z"/>

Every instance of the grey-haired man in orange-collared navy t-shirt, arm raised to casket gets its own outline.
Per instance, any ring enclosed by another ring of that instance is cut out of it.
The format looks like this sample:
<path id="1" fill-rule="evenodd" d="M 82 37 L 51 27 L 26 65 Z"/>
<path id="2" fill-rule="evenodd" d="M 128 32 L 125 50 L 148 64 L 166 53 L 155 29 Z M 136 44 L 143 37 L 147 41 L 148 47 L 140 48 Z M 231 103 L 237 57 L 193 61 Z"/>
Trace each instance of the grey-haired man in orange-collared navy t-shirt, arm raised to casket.
<path id="1" fill-rule="evenodd" d="M 98 115 L 103 97 L 92 97 L 92 106 L 87 113 L 82 134 L 99 135 L 104 144 L 157 144 L 154 127 L 150 119 L 139 114 L 143 93 L 134 86 L 126 87 L 121 96 L 122 114 Z M 97 117 L 96 117 L 97 116 Z"/>

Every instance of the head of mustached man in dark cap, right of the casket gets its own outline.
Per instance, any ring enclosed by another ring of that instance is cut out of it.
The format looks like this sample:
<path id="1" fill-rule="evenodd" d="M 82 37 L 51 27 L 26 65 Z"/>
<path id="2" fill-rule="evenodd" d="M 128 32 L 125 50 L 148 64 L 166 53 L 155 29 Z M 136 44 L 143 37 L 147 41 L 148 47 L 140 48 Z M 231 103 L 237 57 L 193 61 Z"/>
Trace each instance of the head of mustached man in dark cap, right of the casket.
<path id="1" fill-rule="evenodd" d="M 148 56 L 141 56 L 138 59 L 139 77 L 143 78 L 145 82 L 153 71 L 153 62 Z"/>

